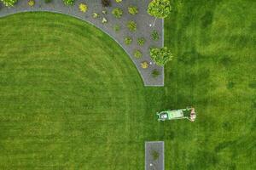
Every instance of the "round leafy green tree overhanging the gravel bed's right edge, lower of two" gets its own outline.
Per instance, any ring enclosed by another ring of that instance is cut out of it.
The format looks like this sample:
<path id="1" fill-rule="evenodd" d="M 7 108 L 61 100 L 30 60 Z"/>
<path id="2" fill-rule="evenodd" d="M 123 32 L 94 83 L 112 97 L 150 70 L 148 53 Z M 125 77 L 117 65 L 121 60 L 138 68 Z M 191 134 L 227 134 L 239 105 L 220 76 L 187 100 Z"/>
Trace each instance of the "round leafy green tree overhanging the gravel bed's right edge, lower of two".
<path id="1" fill-rule="evenodd" d="M 151 48 L 150 57 L 154 60 L 156 65 L 166 65 L 166 63 L 173 58 L 171 51 L 166 47 Z"/>

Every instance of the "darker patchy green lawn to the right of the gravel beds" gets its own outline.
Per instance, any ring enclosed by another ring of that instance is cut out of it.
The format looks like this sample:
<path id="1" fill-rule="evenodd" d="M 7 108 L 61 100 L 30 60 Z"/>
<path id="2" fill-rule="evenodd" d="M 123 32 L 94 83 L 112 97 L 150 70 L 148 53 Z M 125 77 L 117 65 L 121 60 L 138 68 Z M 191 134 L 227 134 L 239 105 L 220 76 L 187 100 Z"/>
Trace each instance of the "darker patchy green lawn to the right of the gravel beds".
<path id="1" fill-rule="evenodd" d="M 255 169 L 256 3 L 174 2 L 166 107 L 195 105 L 198 119 L 165 124 L 167 167 Z"/>

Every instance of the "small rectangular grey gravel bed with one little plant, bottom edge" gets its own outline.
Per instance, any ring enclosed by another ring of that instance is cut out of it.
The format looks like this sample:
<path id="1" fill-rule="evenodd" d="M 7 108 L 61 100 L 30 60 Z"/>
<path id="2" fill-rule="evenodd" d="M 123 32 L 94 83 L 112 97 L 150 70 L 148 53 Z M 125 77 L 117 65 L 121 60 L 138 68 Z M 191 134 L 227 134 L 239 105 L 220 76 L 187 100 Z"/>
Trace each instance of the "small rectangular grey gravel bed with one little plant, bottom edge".
<path id="1" fill-rule="evenodd" d="M 155 153 L 158 156 L 155 156 Z M 145 142 L 145 170 L 165 169 L 165 143 L 164 141 Z"/>

